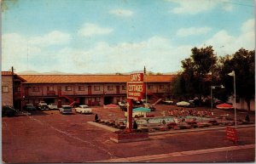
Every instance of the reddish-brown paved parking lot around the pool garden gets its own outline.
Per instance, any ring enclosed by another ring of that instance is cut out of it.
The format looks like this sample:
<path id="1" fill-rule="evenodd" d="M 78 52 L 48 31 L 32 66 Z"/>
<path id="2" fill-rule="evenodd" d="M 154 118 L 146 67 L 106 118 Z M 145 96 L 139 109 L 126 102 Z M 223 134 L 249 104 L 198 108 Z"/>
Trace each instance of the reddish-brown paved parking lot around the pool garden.
<path id="1" fill-rule="evenodd" d="M 162 111 L 170 108 L 177 106 L 157 105 L 157 110 L 152 113 L 154 116 L 161 116 Z M 93 112 L 101 119 L 125 118 L 124 111 L 119 109 L 95 107 Z M 216 110 L 216 115 L 225 113 L 232 115 L 232 111 Z M 238 117 L 241 119 L 244 119 L 245 115 L 246 112 L 238 111 Z M 116 144 L 109 139 L 110 132 L 87 123 L 93 120 L 94 115 L 81 115 L 74 111 L 72 115 L 61 115 L 58 110 L 37 110 L 32 111 L 31 116 L 3 117 L 3 161 L 102 161 L 234 145 L 224 139 L 224 130 L 157 135 L 150 136 L 147 141 Z M 254 122 L 253 113 L 251 120 Z M 254 127 L 240 128 L 238 135 L 238 144 L 255 144 Z M 249 156 L 241 161 L 253 160 L 254 156 Z"/>

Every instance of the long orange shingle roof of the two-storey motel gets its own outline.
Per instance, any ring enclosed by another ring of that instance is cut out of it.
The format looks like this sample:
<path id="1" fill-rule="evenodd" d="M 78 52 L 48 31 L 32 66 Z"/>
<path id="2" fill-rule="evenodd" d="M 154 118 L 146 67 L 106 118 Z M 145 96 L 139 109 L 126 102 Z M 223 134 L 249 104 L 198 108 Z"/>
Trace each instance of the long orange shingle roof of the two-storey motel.
<path id="1" fill-rule="evenodd" d="M 20 75 L 25 83 L 130 82 L 130 75 Z M 146 76 L 145 82 L 171 82 L 175 75 Z"/>

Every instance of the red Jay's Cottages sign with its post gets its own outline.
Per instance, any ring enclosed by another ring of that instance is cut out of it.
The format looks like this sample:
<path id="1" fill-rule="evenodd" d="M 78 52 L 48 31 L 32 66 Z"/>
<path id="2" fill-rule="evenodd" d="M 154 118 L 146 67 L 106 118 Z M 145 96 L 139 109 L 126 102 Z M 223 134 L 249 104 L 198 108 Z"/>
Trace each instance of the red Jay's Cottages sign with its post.
<path id="1" fill-rule="evenodd" d="M 143 93 L 145 93 L 145 86 L 143 82 L 143 73 L 131 74 L 131 82 L 127 82 L 127 128 L 131 133 L 132 129 L 132 99 L 143 99 Z"/>

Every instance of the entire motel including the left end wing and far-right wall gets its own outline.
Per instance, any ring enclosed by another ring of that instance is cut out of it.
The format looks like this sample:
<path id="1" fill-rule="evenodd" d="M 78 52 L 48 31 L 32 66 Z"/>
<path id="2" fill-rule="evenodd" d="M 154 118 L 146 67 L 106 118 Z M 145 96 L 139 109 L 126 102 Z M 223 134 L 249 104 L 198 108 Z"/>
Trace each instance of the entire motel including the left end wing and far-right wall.
<path id="1" fill-rule="evenodd" d="M 167 94 L 175 75 L 144 76 L 148 102 L 172 97 Z M 20 110 L 26 104 L 108 105 L 127 98 L 130 75 L 17 75 L 2 71 L 2 105 Z M 230 99 L 230 102 L 234 100 Z M 255 110 L 254 100 L 251 110 Z M 244 99 L 236 100 L 237 109 L 246 109 Z"/>

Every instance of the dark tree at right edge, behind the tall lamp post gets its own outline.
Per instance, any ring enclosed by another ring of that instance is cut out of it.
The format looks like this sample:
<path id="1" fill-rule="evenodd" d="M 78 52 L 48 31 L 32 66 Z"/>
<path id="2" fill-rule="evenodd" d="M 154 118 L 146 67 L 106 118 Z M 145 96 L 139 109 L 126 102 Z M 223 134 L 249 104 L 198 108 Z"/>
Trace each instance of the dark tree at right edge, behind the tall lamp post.
<path id="1" fill-rule="evenodd" d="M 222 59 L 220 80 L 228 93 L 233 93 L 233 78 L 228 76 L 231 71 L 236 72 L 236 94 L 247 102 L 250 111 L 251 99 L 255 97 L 255 50 L 239 49 L 233 55 L 227 55 Z"/>

